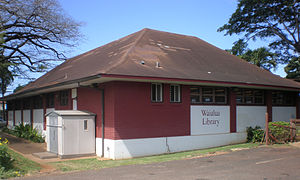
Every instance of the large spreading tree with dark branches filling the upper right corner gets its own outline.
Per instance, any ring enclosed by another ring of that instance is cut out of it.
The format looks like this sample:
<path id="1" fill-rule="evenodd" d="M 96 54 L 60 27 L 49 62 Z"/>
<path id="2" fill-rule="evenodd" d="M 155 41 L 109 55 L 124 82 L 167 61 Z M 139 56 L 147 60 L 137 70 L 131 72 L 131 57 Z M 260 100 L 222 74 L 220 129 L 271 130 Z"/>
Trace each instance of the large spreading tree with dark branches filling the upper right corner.
<path id="1" fill-rule="evenodd" d="M 225 35 L 244 34 L 245 38 L 270 41 L 280 52 L 281 62 L 300 53 L 300 2 L 298 0 L 239 0 L 227 24 L 218 29 Z"/>

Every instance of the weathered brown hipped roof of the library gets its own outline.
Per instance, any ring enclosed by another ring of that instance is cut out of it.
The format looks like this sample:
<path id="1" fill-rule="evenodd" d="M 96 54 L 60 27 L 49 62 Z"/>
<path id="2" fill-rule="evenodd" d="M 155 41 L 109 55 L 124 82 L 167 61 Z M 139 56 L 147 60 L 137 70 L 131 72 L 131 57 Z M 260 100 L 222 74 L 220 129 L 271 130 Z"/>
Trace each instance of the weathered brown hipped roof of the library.
<path id="1" fill-rule="evenodd" d="M 300 88 L 197 37 L 143 29 L 65 61 L 18 93 L 97 75 Z"/>

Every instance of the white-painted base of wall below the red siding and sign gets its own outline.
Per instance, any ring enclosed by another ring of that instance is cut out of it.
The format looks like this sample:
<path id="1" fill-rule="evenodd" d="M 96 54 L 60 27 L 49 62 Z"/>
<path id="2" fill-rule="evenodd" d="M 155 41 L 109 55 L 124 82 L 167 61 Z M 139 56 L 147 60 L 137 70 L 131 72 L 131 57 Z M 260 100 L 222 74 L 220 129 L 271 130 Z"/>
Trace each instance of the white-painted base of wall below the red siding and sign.
<path id="1" fill-rule="evenodd" d="M 111 140 L 104 139 L 104 157 L 125 159 L 236 144 L 246 141 L 246 133 L 175 136 Z M 96 138 L 96 154 L 101 156 L 102 138 Z"/>

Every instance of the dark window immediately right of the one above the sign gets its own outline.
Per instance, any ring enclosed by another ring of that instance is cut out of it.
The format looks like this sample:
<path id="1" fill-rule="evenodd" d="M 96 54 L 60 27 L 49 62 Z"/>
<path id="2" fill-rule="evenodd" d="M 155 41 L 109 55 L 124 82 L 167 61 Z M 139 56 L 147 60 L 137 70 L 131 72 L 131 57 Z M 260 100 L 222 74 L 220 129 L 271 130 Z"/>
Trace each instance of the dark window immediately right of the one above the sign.
<path id="1" fill-rule="evenodd" d="M 238 89 L 236 91 L 237 104 L 264 104 L 264 91 L 253 89 Z"/>

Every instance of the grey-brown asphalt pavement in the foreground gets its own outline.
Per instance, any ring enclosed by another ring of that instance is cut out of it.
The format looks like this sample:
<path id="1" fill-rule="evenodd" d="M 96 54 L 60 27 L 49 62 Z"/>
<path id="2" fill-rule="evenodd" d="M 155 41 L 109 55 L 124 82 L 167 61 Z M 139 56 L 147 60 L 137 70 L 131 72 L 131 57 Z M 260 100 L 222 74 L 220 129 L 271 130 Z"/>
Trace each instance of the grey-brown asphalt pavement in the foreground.
<path id="1" fill-rule="evenodd" d="M 300 148 L 260 147 L 204 158 L 25 177 L 24 179 L 295 180 L 300 179 Z"/>

